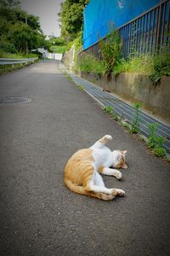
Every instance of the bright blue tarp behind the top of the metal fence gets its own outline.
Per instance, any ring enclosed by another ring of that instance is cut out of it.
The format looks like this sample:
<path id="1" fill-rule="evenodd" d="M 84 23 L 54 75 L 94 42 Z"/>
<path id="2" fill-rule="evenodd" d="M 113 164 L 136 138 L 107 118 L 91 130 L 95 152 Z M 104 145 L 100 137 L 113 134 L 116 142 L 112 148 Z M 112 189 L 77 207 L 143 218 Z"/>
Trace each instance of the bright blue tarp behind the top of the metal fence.
<path id="1" fill-rule="evenodd" d="M 160 0 L 90 0 L 84 9 L 83 49 L 160 3 Z"/>

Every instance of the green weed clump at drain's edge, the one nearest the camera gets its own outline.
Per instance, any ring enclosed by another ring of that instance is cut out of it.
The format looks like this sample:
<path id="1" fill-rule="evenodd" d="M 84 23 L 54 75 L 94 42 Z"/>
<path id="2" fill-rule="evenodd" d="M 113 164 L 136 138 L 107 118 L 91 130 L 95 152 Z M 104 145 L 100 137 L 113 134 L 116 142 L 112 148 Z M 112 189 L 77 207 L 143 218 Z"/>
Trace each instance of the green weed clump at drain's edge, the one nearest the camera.
<path id="1" fill-rule="evenodd" d="M 150 137 L 147 140 L 147 146 L 148 148 L 152 149 L 154 154 L 159 157 L 163 157 L 166 155 L 167 151 L 165 148 L 163 148 L 163 145 L 166 141 L 164 137 L 157 137 L 156 131 L 158 128 L 157 123 L 152 123 L 149 125 L 150 129 Z"/>

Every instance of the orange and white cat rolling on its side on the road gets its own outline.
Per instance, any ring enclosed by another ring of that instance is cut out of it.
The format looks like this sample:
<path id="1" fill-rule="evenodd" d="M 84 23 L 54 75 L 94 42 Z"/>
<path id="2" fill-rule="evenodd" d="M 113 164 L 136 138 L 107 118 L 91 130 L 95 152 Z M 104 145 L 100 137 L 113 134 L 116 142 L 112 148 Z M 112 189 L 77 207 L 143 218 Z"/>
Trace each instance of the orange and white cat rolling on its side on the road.
<path id="1" fill-rule="evenodd" d="M 101 174 L 121 179 L 122 173 L 116 168 L 127 169 L 126 150 L 111 151 L 105 143 L 111 141 L 111 135 L 105 135 L 90 148 L 80 149 L 73 154 L 65 166 L 65 185 L 71 191 L 110 201 L 116 195 L 125 195 L 122 189 L 107 189 Z"/>

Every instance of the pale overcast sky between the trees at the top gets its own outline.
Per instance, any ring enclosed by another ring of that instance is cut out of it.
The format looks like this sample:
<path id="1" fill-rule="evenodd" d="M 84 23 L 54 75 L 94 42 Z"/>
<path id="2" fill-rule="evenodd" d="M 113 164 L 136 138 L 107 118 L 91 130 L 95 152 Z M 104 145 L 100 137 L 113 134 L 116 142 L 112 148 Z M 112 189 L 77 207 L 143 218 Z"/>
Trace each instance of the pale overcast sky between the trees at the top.
<path id="1" fill-rule="evenodd" d="M 30 15 L 40 17 L 40 24 L 45 35 L 59 37 L 59 16 L 60 3 L 64 0 L 20 0 L 21 9 L 27 11 Z"/>

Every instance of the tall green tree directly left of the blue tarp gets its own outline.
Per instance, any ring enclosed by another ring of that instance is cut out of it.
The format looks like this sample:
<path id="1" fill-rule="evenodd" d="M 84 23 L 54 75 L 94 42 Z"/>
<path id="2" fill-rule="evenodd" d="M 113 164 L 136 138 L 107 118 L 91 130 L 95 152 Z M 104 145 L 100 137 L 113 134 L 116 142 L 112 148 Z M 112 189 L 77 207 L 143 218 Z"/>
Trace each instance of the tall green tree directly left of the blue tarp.
<path id="1" fill-rule="evenodd" d="M 88 0 L 65 0 L 61 3 L 59 20 L 61 22 L 61 36 L 66 42 L 77 38 L 78 32 L 82 29 L 83 8 Z"/>

